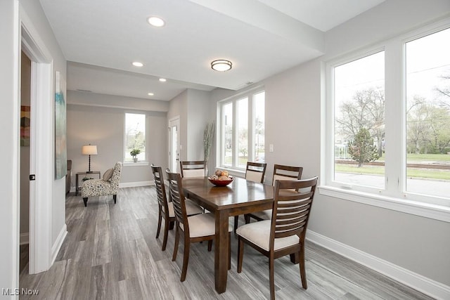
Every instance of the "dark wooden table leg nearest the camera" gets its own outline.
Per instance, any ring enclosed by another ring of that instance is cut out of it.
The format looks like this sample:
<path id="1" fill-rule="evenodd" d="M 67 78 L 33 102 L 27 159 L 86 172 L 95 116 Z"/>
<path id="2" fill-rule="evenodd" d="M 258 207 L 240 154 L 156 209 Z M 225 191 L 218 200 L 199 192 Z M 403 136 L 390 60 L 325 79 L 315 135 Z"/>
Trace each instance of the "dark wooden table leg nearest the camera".
<path id="1" fill-rule="evenodd" d="M 214 241 L 214 278 L 216 291 L 220 294 L 226 290 L 226 276 L 228 272 L 228 243 L 229 216 L 228 211 L 215 211 L 216 238 Z"/>

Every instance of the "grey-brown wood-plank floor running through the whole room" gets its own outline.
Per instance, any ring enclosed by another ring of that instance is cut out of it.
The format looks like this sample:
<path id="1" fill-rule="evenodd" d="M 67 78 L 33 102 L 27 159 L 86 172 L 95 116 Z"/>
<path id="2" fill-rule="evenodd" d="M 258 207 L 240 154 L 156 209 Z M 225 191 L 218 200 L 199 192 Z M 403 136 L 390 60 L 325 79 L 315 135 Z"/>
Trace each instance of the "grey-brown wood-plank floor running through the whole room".
<path id="1" fill-rule="evenodd" d="M 50 270 L 20 275 L 20 288 L 38 289 L 20 299 L 267 299 L 269 263 L 245 247 L 243 272 L 236 273 L 237 239 L 231 238 L 226 292 L 214 289 L 214 247 L 191 245 L 188 273 L 180 282 L 182 250 L 172 261 L 174 230 L 167 249 L 155 239 L 158 201 L 153 186 L 122 188 L 113 197 L 66 199 L 68 235 Z M 240 220 L 242 221 L 242 220 Z M 180 247 L 183 247 L 181 242 Z M 276 299 L 431 299 L 364 266 L 307 242 L 308 289 L 289 256 L 275 262 Z"/>

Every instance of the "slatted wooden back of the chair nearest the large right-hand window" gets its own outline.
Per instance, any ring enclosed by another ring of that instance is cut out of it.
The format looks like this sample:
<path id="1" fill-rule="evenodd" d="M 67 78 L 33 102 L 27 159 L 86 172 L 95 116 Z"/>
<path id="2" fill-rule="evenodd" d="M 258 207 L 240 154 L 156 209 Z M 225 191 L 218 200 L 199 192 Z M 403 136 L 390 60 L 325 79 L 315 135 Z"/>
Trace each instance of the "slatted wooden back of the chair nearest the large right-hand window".
<path id="1" fill-rule="evenodd" d="M 316 184 L 317 177 L 304 180 L 275 181 L 271 242 L 274 242 L 276 238 L 291 235 L 304 238 Z M 295 192 L 295 190 L 301 190 L 302 192 Z"/>

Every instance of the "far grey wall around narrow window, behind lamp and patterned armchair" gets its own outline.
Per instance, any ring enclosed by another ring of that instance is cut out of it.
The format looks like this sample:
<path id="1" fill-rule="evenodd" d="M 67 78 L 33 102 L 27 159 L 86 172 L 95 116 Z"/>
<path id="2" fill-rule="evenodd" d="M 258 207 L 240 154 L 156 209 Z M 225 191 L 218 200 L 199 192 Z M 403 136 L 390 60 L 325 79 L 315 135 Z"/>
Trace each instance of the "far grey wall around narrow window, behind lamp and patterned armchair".
<path id="1" fill-rule="evenodd" d="M 69 91 L 68 102 L 80 103 L 81 99 L 86 103 L 108 103 L 110 99 L 117 97 L 93 93 Z M 136 110 L 133 99 L 121 97 L 122 107 L 127 109 L 105 106 L 68 105 L 68 159 L 72 159 L 72 187 L 75 187 L 75 174 L 88 169 L 88 157 L 82 155 L 83 145 L 91 143 L 97 145 L 98 155 L 91 155 L 91 170 L 101 171 L 101 175 L 114 167 L 115 162 L 123 161 L 124 146 L 124 113 L 140 112 L 147 115 L 148 131 L 148 161 L 158 165 L 167 164 L 167 112 Z M 155 106 L 151 100 L 147 101 L 148 109 L 161 109 L 168 103 L 156 101 Z M 150 103 L 150 104 L 149 104 Z M 81 178 L 79 178 L 81 180 Z M 145 183 L 153 181 L 150 167 L 141 164 L 124 164 L 120 183 Z"/>

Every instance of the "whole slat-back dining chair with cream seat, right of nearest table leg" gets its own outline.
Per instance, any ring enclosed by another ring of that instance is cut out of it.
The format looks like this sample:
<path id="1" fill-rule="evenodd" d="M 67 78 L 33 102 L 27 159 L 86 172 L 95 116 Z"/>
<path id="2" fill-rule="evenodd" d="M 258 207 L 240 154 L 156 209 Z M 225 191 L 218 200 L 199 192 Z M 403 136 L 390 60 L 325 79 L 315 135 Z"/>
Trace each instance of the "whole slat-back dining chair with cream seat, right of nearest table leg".
<path id="1" fill-rule="evenodd" d="M 242 271 L 244 244 L 269 257 L 270 296 L 275 299 L 274 260 L 290 254 L 300 262 L 302 287 L 307 289 L 304 267 L 304 237 L 307 233 L 317 177 L 285 181 L 277 179 L 271 220 L 240 226 L 238 234 L 238 273 Z"/>

